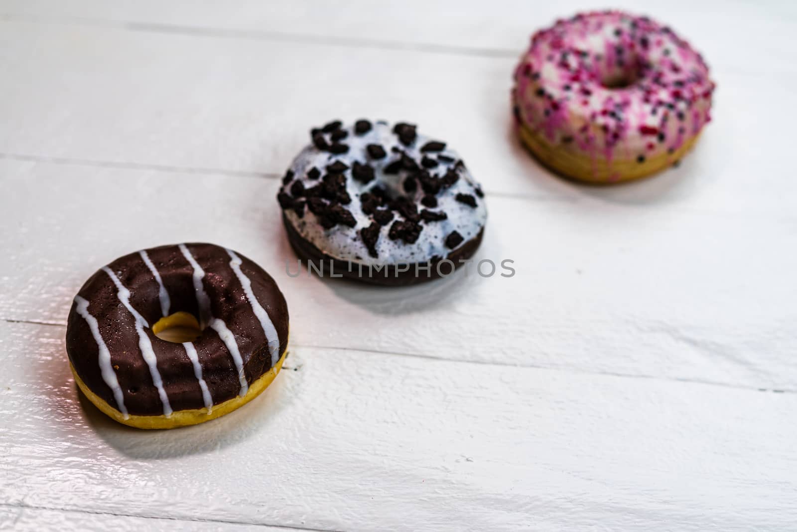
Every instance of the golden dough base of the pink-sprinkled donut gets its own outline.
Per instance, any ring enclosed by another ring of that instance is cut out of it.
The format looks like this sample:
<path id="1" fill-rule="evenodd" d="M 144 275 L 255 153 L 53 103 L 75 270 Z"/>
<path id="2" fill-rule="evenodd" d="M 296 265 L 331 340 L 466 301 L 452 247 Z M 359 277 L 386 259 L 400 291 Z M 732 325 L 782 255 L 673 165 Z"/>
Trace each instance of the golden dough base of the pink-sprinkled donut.
<path id="1" fill-rule="evenodd" d="M 602 157 L 593 157 L 588 154 L 567 152 L 562 148 L 553 146 L 540 133 L 532 132 L 525 124 L 516 124 L 517 135 L 520 142 L 544 167 L 556 172 L 567 179 L 574 179 L 583 183 L 607 184 L 623 183 L 642 179 L 654 175 L 675 161 L 681 160 L 691 150 L 701 132 L 689 137 L 680 148 L 673 153 L 662 153 L 659 156 L 646 159 L 638 163 L 634 159 L 614 158 L 611 164 Z M 612 175 L 618 175 L 611 179 Z"/>

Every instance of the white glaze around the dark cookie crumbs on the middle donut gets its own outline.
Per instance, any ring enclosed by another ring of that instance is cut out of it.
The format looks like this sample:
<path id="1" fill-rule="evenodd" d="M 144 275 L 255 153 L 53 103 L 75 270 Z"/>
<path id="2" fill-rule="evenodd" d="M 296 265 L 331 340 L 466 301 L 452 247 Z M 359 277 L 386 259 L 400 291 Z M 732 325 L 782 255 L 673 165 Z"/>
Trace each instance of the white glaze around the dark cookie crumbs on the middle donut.
<path id="1" fill-rule="evenodd" d="M 371 225 L 370 216 L 363 213 L 360 208 L 359 195 L 363 192 L 370 190 L 376 184 L 382 183 L 383 186 L 395 191 L 398 195 L 404 195 L 405 192 L 401 190 L 402 181 L 406 175 L 406 171 L 400 171 L 395 175 L 386 175 L 383 168 L 390 164 L 397 158 L 397 154 L 391 152 L 391 148 L 400 148 L 408 156 L 419 160 L 422 156 L 420 148 L 423 144 L 430 140 L 438 140 L 433 137 L 423 136 L 418 133 L 418 137 L 410 147 L 406 147 L 398 141 L 398 136 L 392 132 L 392 126 L 385 122 L 373 122 L 371 131 L 364 135 L 356 135 L 353 127 L 344 126 L 348 132 L 348 136 L 341 140 L 343 144 L 348 144 L 349 151 L 340 155 L 332 154 L 329 152 L 322 152 L 312 144 L 305 147 L 296 159 L 293 160 L 290 169 L 296 175 L 295 179 L 300 179 L 304 182 L 305 187 L 313 187 L 320 183 L 321 179 L 308 179 L 307 172 L 312 167 L 316 167 L 324 175 L 324 170 L 328 164 L 332 164 L 336 160 L 343 161 L 349 169 L 344 172 L 347 177 L 346 190 L 351 195 L 351 203 L 345 205 L 348 211 L 354 215 L 357 222 L 355 227 L 347 227 L 338 224 L 332 229 L 324 229 L 320 223 L 316 221 L 316 215 L 312 214 L 308 209 L 305 209 L 304 218 L 299 218 L 292 210 L 285 210 L 285 215 L 288 217 L 292 226 L 302 236 L 302 238 L 312 242 L 313 245 L 323 250 L 324 253 L 331 255 L 334 258 L 340 258 L 345 261 L 355 261 L 366 265 L 377 264 L 407 264 L 414 262 L 426 262 L 433 256 L 445 257 L 451 252 L 445 245 L 445 239 L 452 231 L 457 231 L 465 238 L 464 242 L 474 238 L 483 227 L 487 219 L 487 209 L 485 207 L 485 199 L 479 198 L 475 194 L 475 187 L 477 183 L 470 175 L 467 168 L 462 168 L 460 179 L 454 183 L 452 187 L 443 188 L 438 194 L 438 207 L 430 208 L 431 211 L 445 211 L 448 219 L 439 222 L 422 222 L 423 231 L 421 231 L 418 240 L 412 244 L 407 244 L 402 240 L 391 240 L 388 238 L 387 233 L 390 230 L 391 223 L 387 226 L 381 227 L 379 233 L 379 240 L 376 242 L 376 250 L 379 254 L 378 258 L 371 257 L 368 254 L 367 247 L 363 243 L 362 238 L 359 236 L 359 231 L 363 227 Z M 381 160 L 372 160 L 367 156 L 367 144 L 381 144 L 387 156 Z M 453 160 L 460 160 L 461 157 L 457 152 L 446 147 L 446 150 L 439 152 L 439 154 L 450 156 Z M 438 153 L 429 153 L 429 156 L 437 156 Z M 376 179 L 371 180 L 370 183 L 359 183 L 351 178 L 351 167 L 355 161 L 359 163 L 368 163 L 374 167 Z M 443 175 L 449 168 L 452 168 L 454 163 L 441 163 L 438 167 L 430 169 L 432 175 Z M 289 193 L 290 183 L 283 187 L 285 192 Z M 469 207 L 464 203 L 457 202 L 454 197 L 457 194 L 473 195 L 477 201 L 477 207 Z M 418 187 L 418 199 L 422 196 L 420 186 Z M 426 207 L 419 207 L 419 209 Z M 401 219 L 397 215 L 395 219 Z"/>

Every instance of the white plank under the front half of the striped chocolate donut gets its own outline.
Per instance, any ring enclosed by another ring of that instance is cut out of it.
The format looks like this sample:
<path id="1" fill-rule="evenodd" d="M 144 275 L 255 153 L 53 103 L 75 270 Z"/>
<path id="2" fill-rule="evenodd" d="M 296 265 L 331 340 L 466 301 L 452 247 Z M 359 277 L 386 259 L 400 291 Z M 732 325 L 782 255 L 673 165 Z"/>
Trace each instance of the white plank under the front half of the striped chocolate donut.
<path id="1" fill-rule="evenodd" d="M 797 519 L 794 393 L 294 348 L 253 404 L 139 432 L 77 400 L 62 334 L 0 324 L 5 505 L 325 530 Z"/>

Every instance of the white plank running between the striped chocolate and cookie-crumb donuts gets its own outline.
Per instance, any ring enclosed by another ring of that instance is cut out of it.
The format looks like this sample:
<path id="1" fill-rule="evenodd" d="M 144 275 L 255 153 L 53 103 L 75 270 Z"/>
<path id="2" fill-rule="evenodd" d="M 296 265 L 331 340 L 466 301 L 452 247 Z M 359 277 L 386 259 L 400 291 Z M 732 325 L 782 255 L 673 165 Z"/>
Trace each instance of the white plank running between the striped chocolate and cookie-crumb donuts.
<path id="1" fill-rule="evenodd" d="M 384 290 L 289 277 L 274 179 L 9 161 L 0 175 L 6 319 L 64 323 L 113 258 L 210 241 L 272 272 L 297 345 L 797 389 L 793 218 L 488 197 L 476 259 L 511 259 L 514 277 L 471 266 Z"/>

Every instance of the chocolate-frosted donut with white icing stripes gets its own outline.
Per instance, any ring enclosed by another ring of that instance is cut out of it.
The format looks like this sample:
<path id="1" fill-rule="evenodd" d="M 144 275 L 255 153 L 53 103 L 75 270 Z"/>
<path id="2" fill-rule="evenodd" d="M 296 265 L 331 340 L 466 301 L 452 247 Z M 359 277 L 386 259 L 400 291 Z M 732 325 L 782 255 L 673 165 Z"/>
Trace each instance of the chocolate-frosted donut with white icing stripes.
<path id="1" fill-rule="evenodd" d="M 175 327 L 195 339 L 164 340 Z M 249 258 L 204 243 L 140 250 L 102 267 L 75 296 L 66 330 L 77 386 L 137 428 L 234 411 L 271 384 L 287 347 L 277 283 Z"/>

